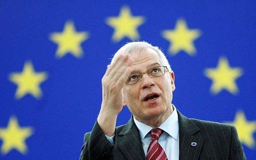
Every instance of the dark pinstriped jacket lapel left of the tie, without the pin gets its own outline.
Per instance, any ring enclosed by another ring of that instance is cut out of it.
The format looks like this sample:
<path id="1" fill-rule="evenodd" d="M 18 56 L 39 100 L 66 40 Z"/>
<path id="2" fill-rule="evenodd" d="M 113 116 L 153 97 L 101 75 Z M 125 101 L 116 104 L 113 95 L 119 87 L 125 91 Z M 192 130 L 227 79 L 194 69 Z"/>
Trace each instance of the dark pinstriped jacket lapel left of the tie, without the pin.
<path id="1" fill-rule="evenodd" d="M 133 117 L 116 137 L 116 144 L 129 160 L 145 160 L 142 143 L 138 128 Z"/>

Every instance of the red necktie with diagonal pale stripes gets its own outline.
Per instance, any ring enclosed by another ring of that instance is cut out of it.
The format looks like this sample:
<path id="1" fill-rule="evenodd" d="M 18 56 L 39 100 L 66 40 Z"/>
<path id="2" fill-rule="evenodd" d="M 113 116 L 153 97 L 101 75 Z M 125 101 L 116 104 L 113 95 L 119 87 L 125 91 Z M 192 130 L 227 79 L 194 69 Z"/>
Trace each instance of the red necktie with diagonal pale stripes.
<path id="1" fill-rule="evenodd" d="M 153 128 L 151 130 L 151 142 L 148 146 L 146 160 L 167 160 L 163 148 L 158 143 L 158 138 L 163 132 L 160 128 Z"/>

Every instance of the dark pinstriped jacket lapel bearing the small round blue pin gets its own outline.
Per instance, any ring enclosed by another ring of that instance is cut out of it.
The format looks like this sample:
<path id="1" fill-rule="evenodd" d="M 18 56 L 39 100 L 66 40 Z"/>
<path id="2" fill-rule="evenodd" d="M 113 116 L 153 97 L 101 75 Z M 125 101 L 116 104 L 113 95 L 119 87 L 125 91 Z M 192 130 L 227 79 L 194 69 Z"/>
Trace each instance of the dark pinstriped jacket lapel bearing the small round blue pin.
<path id="1" fill-rule="evenodd" d="M 183 116 L 178 110 L 179 137 L 180 137 L 180 160 L 198 160 L 204 140 L 200 135 L 200 129 L 190 119 Z M 192 142 L 193 143 L 192 146 Z"/>

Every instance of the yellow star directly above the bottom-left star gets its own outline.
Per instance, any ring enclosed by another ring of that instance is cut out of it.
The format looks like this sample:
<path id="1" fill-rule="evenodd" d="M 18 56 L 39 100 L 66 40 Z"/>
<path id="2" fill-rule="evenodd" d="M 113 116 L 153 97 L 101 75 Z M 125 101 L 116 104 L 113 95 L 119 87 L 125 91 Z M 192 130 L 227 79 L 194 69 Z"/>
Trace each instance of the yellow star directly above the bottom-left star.
<path id="1" fill-rule="evenodd" d="M 42 92 L 39 85 L 47 79 L 47 73 L 34 72 L 32 63 L 28 61 L 24 64 L 24 68 L 21 73 L 11 73 L 9 79 L 18 85 L 15 93 L 16 99 L 20 99 L 26 94 L 31 94 L 35 98 L 40 98 L 42 96 Z"/>

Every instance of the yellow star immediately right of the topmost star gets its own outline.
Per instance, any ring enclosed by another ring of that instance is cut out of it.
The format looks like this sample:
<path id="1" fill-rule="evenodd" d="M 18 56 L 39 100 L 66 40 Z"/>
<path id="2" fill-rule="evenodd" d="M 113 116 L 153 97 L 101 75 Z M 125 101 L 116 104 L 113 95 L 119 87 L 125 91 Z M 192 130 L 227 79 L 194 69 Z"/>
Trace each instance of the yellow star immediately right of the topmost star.
<path id="1" fill-rule="evenodd" d="M 185 20 L 178 20 L 174 30 L 164 30 L 162 36 L 170 41 L 169 52 L 176 55 L 183 50 L 190 56 L 196 53 L 193 41 L 200 36 L 200 31 L 189 30 Z"/>

